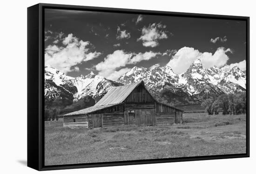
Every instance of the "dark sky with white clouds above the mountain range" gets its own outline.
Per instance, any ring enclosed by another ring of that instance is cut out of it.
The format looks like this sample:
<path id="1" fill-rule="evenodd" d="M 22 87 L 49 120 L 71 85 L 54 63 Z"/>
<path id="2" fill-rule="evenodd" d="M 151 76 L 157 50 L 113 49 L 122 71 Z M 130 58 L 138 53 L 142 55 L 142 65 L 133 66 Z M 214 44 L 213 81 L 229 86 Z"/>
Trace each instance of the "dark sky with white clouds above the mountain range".
<path id="1" fill-rule="evenodd" d="M 45 65 L 77 77 L 117 80 L 132 67 L 246 68 L 246 22 L 131 13 L 45 9 Z"/>

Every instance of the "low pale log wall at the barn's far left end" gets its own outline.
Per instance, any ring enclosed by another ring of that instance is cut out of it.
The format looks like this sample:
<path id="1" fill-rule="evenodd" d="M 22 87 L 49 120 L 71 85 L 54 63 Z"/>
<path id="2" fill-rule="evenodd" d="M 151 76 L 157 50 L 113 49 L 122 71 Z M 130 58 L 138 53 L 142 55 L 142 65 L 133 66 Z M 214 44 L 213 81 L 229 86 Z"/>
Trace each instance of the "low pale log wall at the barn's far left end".
<path id="1" fill-rule="evenodd" d="M 74 116 L 64 116 L 63 117 L 63 127 L 85 127 L 88 128 L 88 118 L 87 115 L 74 115 Z"/>

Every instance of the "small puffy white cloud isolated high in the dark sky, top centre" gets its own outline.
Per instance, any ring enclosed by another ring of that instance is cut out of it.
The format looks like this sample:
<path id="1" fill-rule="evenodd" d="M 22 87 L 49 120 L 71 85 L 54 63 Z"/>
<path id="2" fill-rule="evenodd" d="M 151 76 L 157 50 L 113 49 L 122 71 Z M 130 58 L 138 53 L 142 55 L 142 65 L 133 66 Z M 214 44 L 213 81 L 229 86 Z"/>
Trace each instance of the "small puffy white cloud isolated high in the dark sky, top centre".
<path id="1" fill-rule="evenodd" d="M 144 47 L 156 47 L 159 45 L 158 40 L 167 39 L 166 26 L 161 23 L 149 24 L 148 27 L 143 27 L 141 30 L 141 37 L 137 41 L 142 40 L 142 45 Z"/>

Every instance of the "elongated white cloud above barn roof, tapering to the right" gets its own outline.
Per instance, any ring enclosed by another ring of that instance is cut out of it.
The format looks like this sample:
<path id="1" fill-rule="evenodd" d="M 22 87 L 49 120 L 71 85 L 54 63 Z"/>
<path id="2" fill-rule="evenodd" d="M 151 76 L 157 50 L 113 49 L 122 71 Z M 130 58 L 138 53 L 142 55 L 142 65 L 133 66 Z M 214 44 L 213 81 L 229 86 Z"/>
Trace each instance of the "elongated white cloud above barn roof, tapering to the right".
<path id="1" fill-rule="evenodd" d="M 149 60 L 155 57 L 157 54 L 154 52 L 145 52 L 145 53 L 126 53 L 123 50 L 116 50 L 113 54 L 108 54 L 104 61 L 101 61 L 99 64 L 95 65 L 95 69 L 99 71 L 99 75 L 106 77 L 107 79 L 116 80 L 118 77 L 115 74 L 121 74 L 127 68 L 116 71 L 120 67 L 125 67 L 128 64 L 136 64 L 142 60 Z"/>

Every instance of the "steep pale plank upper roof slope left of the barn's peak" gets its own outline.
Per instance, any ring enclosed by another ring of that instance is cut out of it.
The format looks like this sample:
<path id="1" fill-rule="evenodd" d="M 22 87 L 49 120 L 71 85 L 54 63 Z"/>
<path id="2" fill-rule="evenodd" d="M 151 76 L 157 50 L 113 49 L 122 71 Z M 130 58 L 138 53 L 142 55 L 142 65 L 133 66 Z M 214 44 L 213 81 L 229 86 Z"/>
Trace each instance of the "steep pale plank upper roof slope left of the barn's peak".
<path id="1" fill-rule="evenodd" d="M 121 103 L 141 83 L 143 83 L 143 85 L 144 85 L 144 82 L 140 81 L 137 83 L 133 83 L 131 85 L 125 85 L 125 86 L 121 86 L 121 87 L 113 87 L 94 106 Z"/>

